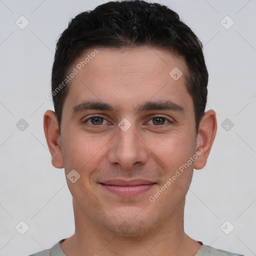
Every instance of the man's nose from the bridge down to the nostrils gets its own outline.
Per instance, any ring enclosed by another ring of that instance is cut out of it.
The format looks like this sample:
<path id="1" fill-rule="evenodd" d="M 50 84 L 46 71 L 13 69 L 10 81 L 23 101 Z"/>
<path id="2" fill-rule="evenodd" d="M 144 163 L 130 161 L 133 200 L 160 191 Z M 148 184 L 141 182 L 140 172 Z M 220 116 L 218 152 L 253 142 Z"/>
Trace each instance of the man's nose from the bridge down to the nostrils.
<path id="1" fill-rule="evenodd" d="M 131 170 L 136 164 L 144 164 L 147 160 L 147 146 L 134 125 L 123 131 L 120 128 L 111 139 L 108 151 L 108 162 L 121 169 Z"/>

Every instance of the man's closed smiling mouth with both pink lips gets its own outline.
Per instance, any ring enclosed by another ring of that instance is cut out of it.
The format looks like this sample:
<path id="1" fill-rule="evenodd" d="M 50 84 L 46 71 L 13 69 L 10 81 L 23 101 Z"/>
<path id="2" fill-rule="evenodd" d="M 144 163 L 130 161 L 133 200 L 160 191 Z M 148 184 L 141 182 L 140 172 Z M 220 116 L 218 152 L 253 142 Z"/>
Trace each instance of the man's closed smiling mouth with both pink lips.
<path id="1" fill-rule="evenodd" d="M 99 182 L 105 189 L 121 196 L 131 196 L 143 193 L 152 188 L 156 182 L 145 179 L 111 179 L 104 182 Z"/>

